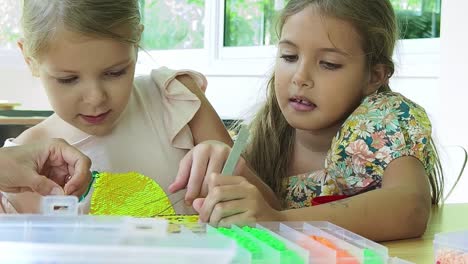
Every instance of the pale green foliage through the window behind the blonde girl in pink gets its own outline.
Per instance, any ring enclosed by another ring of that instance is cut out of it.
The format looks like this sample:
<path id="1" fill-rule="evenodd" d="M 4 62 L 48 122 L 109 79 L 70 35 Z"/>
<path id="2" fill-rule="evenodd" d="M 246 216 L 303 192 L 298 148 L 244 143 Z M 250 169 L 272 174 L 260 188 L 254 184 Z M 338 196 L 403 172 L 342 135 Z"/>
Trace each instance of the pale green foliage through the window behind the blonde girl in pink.
<path id="1" fill-rule="evenodd" d="M 48 0 L 44 0 L 48 1 Z M 145 31 L 142 46 L 152 49 L 203 48 L 205 0 L 139 0 Z M 14 48 L 21 36 L 19 0 L 0 0 L 0 48 Z"/>

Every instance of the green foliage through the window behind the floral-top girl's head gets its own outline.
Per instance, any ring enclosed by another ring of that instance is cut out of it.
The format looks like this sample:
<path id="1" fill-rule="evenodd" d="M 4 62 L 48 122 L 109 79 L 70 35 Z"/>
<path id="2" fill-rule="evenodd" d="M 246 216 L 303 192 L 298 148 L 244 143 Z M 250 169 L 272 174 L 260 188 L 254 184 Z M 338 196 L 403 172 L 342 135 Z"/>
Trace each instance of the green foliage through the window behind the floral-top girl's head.
<path id="1" fill-rule="evenodd" d="M 441 0 L 390 1 L 402 39 L 440 36 Z M 225 0 L 224 46 L 274 44 L 279 2 L 286 3 L 287 0 Z"/>

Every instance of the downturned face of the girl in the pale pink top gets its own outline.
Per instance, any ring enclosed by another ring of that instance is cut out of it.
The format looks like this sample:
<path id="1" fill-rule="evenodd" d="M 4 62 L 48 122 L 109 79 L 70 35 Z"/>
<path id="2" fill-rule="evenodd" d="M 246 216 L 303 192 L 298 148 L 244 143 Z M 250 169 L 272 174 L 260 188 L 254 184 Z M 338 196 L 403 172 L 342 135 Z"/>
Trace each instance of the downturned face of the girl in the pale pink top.
<path id="1" fill-rule="evenodd" d="M 136 48 L 66 30 L 58 34 L 37 62 L 29 63 L 33 73 L 64 121 L 87 134 L 106 135 L 128 103 Z"/>

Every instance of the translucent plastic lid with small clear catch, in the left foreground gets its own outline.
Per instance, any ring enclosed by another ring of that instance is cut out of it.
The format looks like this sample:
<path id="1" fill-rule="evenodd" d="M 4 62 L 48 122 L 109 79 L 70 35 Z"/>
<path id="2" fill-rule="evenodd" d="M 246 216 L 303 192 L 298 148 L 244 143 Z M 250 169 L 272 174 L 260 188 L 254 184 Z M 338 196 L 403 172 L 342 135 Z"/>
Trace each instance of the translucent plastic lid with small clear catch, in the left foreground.
<path id="1" fill-rule="evenodd" d="M 232 263 L 222 236 L 167 232 L 161 219 L 77 215 L 76 197 L 46 197 L 44 215 L 0 217 L 1 263 Z"/>

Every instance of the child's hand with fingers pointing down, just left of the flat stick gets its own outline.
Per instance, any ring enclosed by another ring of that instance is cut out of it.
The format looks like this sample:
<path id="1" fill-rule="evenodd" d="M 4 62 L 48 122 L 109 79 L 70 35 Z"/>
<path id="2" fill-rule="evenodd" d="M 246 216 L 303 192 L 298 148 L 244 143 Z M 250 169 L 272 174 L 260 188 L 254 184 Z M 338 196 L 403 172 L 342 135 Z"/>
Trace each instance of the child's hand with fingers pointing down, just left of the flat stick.
<path id="1" fill-rule="evenodd" d="M 207 175 L 220 173 L 231 148 L 219 141 L 205 141 L 191 149 L 180 161 L 175 181 L 169 186 L 170 192 L 187 189 L 185 201 L 192 204 L 198 197 L 207 195 Z M 235 173 L 243 168 L 245 161 L 240 158 Z"/>

